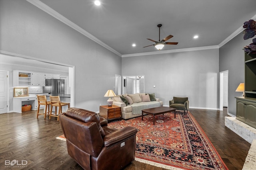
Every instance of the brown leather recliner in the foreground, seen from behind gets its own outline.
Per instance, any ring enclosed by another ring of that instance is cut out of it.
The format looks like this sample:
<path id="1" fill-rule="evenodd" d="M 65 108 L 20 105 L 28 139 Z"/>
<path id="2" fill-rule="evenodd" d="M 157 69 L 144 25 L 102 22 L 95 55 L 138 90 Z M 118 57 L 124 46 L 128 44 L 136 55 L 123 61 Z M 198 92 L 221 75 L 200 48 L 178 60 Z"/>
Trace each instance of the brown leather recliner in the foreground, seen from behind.
<path id="1" fill-rule="evenodd" d="M 119 170 L 135 158 L 135 127 L 116 130 L 97 113 L 70 107 L 60 116 L 68 154 L 85 170 Z"/>

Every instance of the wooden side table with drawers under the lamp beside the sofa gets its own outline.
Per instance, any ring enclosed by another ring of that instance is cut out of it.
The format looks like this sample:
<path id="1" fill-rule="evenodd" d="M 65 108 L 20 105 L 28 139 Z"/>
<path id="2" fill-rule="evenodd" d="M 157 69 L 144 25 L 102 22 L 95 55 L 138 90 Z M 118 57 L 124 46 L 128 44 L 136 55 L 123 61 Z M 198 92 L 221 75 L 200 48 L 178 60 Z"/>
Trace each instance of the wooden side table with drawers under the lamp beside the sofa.
<path id="1" fill-rule="evenodd" d="M 104 117 L 108 121 L 114 120 L 114 119 L 121 119 L 122 114 L 121 114 L 121 107 L 119 106 L 100 106 L 100 116 Z"/>

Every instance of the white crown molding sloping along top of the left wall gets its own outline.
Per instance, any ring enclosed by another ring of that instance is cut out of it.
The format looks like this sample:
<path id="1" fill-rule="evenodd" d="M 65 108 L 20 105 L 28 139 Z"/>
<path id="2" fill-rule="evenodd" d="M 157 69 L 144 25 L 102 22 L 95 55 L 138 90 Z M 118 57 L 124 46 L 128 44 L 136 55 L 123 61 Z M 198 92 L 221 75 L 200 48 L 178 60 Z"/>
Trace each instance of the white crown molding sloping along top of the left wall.
<path id="1" fill-rule="evenodd" d="M 60 20 L 61 22 L 65 23 L 66 25 L 72 27 L 76 31 L 82 33 L 86 37 L 88 37 L 91 40 L 95 41 L 96 43 L 100 44 L 102 47 L 105 47 L 106 49 L 108 49 L 109 51 L 112 51 L 113 53 L 115 53 L 116 55 L 118 55 L 120 57 L 122 56 L 121 53 L 119 53 L 118 51 L 114 50 L 110 46 L 106 45 L 105 43 L 100 41 L 98 38 L 94 37 L 92 34 L 88 33 L 87 31 L 85 31 L 84 29 L 82 29 L 81 27 L 76 25 L 74 22 L 68 20 L 67 18 L 65 18 L 60 13 L 56 12 L 55 10 L 53 10 L 52 8 L 50 8 L 49 6 L 47 6 L 46 4 L 41 2 L 40 0 L 26 0 L 26 1 L 30 2 L 31 4 L 33 4 L 34 6 L 36 6 L 38 8 L 40 8 L 44 12 L 50 14 L 51 16 L 56 18 L 57 20 Z"/>

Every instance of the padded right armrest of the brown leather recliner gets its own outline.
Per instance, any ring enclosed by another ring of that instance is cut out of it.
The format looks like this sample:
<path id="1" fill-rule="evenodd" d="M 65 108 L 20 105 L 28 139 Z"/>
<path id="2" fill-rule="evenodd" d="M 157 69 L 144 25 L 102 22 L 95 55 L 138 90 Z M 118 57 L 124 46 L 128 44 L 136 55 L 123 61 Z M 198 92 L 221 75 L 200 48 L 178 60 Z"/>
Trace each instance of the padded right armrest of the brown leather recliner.
<path id="1" fill-rule="evenodd" d="M 103 139 L 104 146 L 108 147 L 110 145 L 118 143 L 132 135 L 135 135 L 137 132 L 138 132 L 138 129 L 136 129 L 135 127 L 131 127 L 131 126 L 127 126 L 122 129 L 119 129 L 118 131 L 110 133 L 104 137 L 104 139 Z"/>

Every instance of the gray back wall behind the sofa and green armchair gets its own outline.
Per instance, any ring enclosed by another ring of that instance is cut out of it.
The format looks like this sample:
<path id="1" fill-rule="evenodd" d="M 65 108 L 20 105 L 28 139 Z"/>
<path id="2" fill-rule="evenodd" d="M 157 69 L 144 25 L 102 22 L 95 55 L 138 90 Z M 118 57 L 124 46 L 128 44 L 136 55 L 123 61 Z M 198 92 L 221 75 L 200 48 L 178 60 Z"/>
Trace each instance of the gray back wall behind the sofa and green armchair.
<path id="1" fill-rule="evenodd" d="M 145 75 L 145 92 L 155 93 L 164 105 L 173 96 L 187 96 L 194 108 L 219 105 L 218 49 L 123 57 L 122 75 Z"/>

